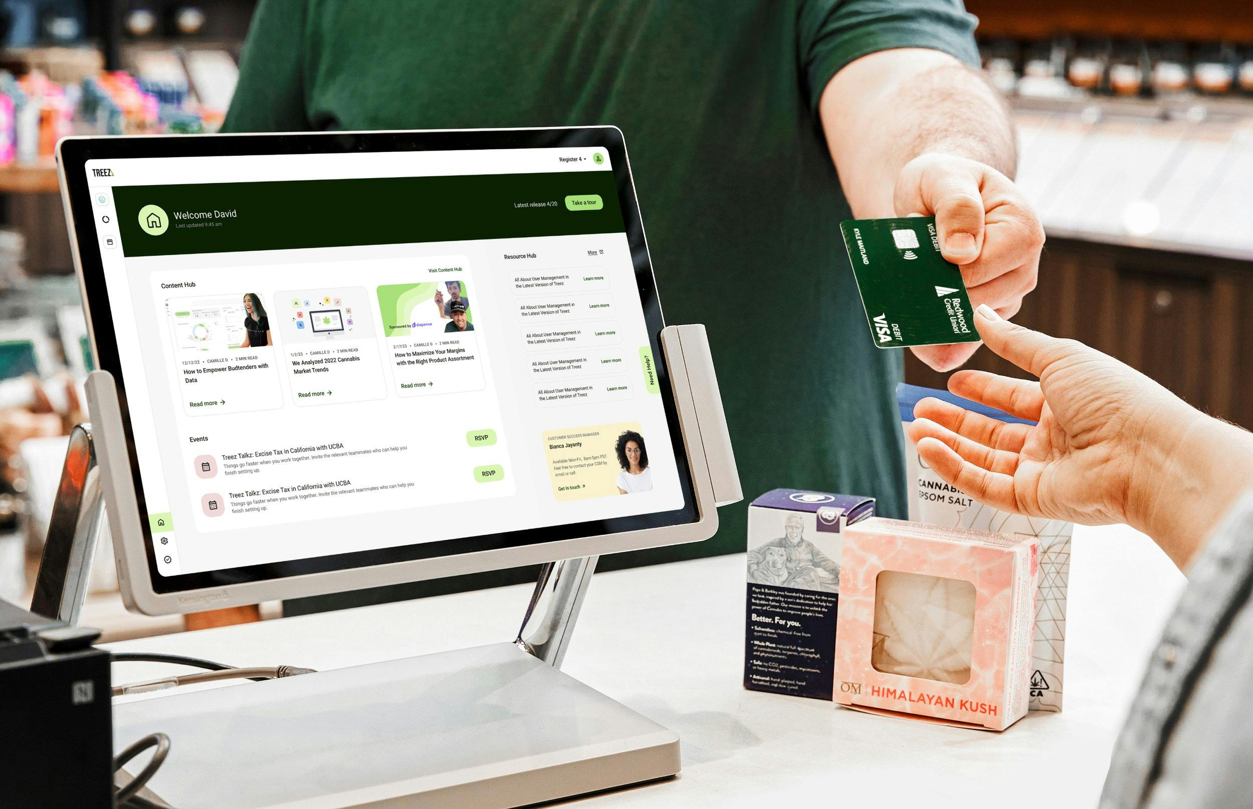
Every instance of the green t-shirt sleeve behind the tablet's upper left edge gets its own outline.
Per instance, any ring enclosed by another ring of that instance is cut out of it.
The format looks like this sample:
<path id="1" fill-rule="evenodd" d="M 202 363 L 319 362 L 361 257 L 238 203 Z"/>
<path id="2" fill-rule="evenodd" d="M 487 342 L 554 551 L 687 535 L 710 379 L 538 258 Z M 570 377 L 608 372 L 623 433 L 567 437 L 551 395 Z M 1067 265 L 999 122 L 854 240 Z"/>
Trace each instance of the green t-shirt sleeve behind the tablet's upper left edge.
<path id="1" fill-rule="evenodd" d="M 311 129 L 304 106 L 306 0 L 261 0 L 222 131 Z"/>

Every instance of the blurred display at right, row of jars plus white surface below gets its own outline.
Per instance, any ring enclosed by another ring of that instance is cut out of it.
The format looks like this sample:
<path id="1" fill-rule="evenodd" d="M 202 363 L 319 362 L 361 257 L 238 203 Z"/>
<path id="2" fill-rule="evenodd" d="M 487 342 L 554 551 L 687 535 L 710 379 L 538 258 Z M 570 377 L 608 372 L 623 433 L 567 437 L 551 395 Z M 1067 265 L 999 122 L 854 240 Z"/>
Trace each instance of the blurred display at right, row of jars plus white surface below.
<path id="1" fill-rule="evenodd" d="M 1253 258 L 1253 46 L 1055 36 L 981 43 L 1053 237 Z M 1240 76 L 1248 74 L 1250 81 Z"/>

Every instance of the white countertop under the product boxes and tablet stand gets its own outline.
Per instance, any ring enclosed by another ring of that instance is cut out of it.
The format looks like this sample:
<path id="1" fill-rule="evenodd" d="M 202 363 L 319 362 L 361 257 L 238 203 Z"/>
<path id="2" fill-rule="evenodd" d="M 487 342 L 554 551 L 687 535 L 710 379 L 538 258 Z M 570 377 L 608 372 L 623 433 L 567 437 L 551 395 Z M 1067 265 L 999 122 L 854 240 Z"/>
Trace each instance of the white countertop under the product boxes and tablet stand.
<path id="1" fill-rule="evenodd" d="M 585 800 L 719 809 L 1095 805 L 1115 735 L 1183 584 L 1165 555 L 1130 528 L 1076 527 L 1065 711 L 1030 714 L 995 734 L 746 691 L 742 554 L 599 574 L 563 669 L 678 731 L 683 771 Z M 333 669 L 510 640 L 530 590 L 500 587 L 110 647 L 239 666 Z M 114 680 L 174 670 L 119 664 Z"/>

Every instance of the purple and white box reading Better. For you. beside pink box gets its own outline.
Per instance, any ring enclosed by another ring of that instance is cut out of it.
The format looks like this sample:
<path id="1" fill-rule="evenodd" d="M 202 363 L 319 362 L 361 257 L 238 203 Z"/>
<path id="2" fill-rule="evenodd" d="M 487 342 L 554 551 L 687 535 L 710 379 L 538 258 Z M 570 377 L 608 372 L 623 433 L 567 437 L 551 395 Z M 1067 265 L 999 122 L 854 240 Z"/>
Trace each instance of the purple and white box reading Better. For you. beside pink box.
<path id="1" fill-rule="evenodd" d="M 748 506 L 744 688 L 832 699 L 843 530 L 875 498 L 776 488 Z"/>

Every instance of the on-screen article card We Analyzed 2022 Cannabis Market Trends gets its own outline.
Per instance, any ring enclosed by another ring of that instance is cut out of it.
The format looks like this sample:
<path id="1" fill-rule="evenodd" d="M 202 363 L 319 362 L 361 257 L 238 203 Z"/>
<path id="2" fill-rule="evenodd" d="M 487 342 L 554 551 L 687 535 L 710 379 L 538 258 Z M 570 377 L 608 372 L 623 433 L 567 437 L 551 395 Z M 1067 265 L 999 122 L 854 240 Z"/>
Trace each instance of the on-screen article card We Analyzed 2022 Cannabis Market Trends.
<path id="1" fill-rule="evenodd" d="M 387 394 L 370 293 L 365 287 L 287 289 L 274 293 L 297 404 L 380 399 Z"/>

